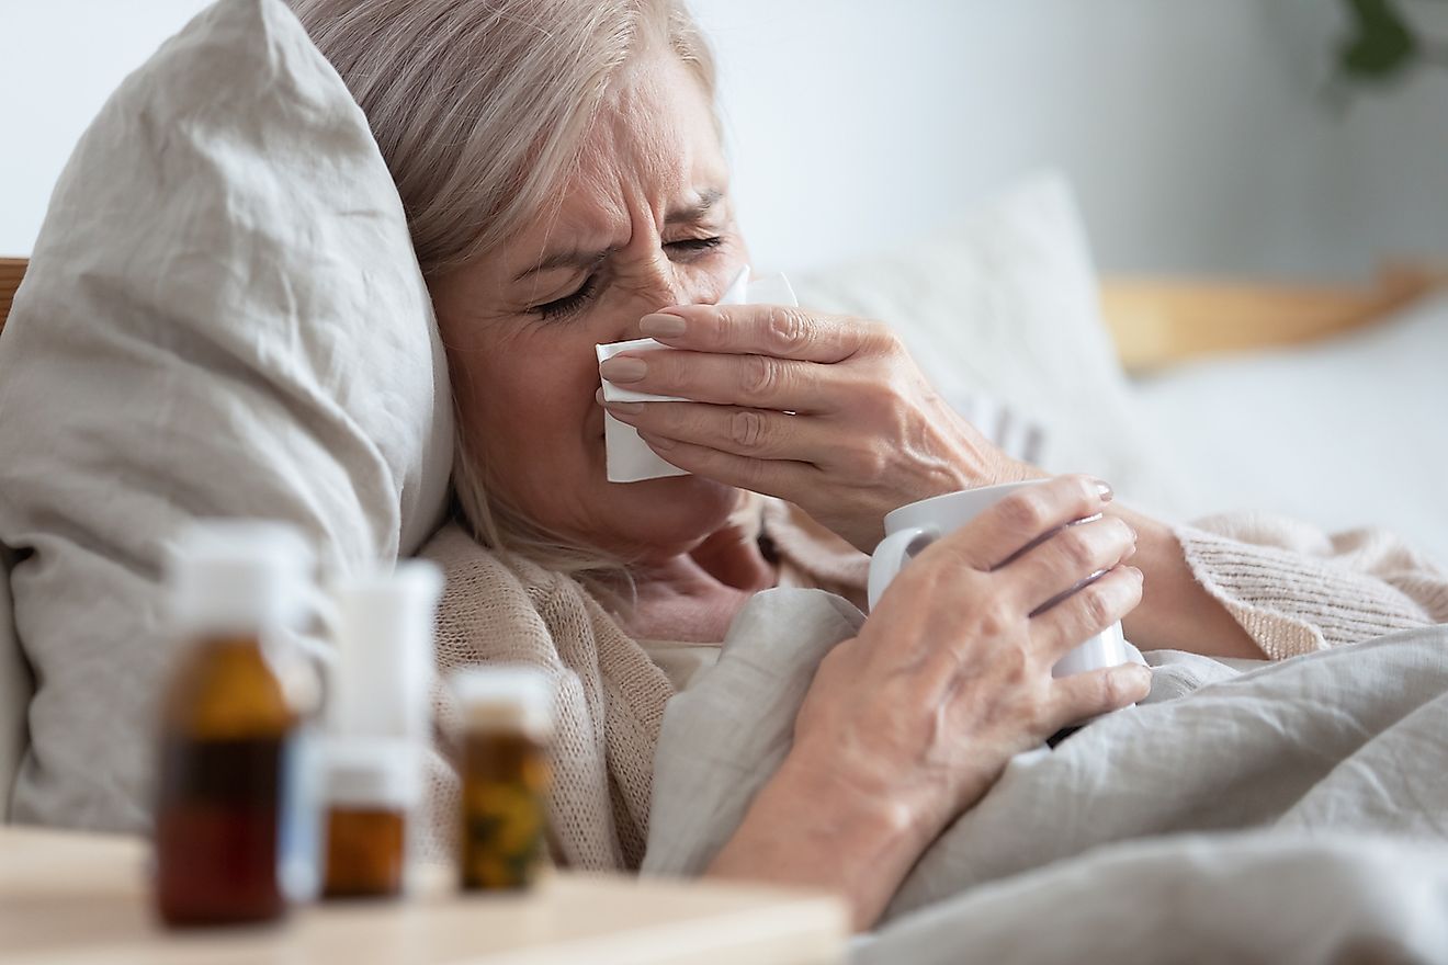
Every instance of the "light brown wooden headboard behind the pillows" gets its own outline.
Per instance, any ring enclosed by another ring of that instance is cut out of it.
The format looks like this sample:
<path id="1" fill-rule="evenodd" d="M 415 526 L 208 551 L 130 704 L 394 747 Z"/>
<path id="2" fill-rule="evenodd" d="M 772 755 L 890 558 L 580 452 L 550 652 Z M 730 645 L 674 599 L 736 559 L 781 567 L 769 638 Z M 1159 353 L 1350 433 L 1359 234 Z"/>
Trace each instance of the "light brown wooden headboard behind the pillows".
<path id="1" fill-rule="evenodd" d="M 25 276 L 0 258 L 0 328 Z M 1102 314 L 1131 372 L 1186 359 L 1300 344 L 1370 326 L 1448 282 L 1419 268 L 1384 271 L 1371 285 L 1273 285 L 1108 278 Z"/>

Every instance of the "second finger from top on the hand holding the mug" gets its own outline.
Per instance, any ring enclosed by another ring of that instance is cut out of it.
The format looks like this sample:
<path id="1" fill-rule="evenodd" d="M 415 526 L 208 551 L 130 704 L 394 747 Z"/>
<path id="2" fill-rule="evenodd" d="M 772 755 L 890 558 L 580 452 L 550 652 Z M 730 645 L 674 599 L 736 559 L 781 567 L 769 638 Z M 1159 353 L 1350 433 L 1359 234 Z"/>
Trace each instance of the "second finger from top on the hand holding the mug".
<path id="1" fill-rule="evenodd" d="M 1032 616 L 1067 599 L 1137 550 L 1137 532 L 1116 516 L 1067 524 L 998 567 L 1002 589 Z"/>

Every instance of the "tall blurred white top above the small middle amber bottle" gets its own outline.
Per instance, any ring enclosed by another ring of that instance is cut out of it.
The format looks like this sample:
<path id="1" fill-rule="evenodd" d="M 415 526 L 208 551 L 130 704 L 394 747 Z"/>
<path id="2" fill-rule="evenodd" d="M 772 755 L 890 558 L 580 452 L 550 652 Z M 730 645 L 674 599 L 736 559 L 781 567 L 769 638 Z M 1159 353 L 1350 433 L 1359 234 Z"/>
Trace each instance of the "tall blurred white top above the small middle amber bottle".
<path id="1" fill-rule="evenodd" d="M 334 587 L 337 654 L 327 703 L 334 736 L 426 744 L 442 589 L 442 571 L 426 560 L 404 560 L 394 573 Z"/>

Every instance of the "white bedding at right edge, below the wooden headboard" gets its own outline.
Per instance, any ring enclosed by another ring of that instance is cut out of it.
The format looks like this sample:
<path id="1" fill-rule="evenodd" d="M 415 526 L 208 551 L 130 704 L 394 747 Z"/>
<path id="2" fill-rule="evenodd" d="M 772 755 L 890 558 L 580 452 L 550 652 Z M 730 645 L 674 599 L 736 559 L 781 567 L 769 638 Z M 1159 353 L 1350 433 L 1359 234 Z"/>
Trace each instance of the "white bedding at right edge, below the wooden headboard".
<path id="1" fill-rule="evenodd" d="M 1448 294 L 1310 346 L 1186 365 L 1134 389 L 1183 519 L 1270 511 L 1374 525 L 1448 564 Z M 1111 480 L 1118 490 L 1131 479 Z"/>

